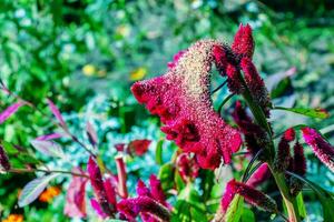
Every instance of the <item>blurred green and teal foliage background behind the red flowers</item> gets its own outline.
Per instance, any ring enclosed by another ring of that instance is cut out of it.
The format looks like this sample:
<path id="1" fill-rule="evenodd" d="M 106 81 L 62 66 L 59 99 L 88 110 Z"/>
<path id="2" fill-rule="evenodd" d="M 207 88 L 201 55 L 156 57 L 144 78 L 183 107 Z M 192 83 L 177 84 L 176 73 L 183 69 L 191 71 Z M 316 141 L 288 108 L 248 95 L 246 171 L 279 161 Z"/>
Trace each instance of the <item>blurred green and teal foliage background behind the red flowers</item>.
<path id="1" fill-rule="evenodd" d="M 62 111 L 70 130 L 87 140 L 85 123 L 98 129 L 104 159 L 115 169 L 114 144 L 153 140 L 149 153 L 128 161 L 129 184 L 157 173 L 155 148 L 164 135 L 159 122 L 137 104 L 130 85 L 161 74 L 179 50 L 199 39 L 232 42 L 239 23 L 249 23 L 256 42 L 255 63 L 266 79 L 274 104 L 324 108 L 326 120 L 275 111 L 274 128 L 307 123 L 334 132 L 334 2 L 331 0 L 2 0 L 0 3 L 0 77 L 8 88 L 49 113 L 46 98 Z M 213 85 L 222 82 L 214 78 Z M 215 94 L 222 101 L 226 90 Z M 0 108 L 14 101 L 0 93 Z M 224 113 L 229 113 L 233 100 Z M 229 108 L 230 107 L 230 108 Z M 49 114 L 51 117 L 51 114 Z M 228 117 L 226 117 L 228 119 Z M 40 113 L 22 108 L 0 127 L 0 139 L 32 150 L 30 140 L 53 130 Z M 61 141 L 78 164 L 87 160 L 78 145 Z M 160 144 L 160 143 L 159 143 Z M 161 145 L 161 144 L 160 144 Z M 168 161 L 176 148 L 164 142 Z M 311 152 L 308 150 L 308 152 Z M 40 157 L 43 159 L 43 157 Z M 333 190 L 334 176 L 310 153 L 308 176 Z M 45 158 L 49 165 L 67 163 Z M 68 221 L 65 191 L 48 202 L 17 208 L 20 189 L 33 178 L 0 175 L 0 216 L 19 213 L 24 221 Z M 67 182 L 58 181 L 56 184 Z M 321 221 L 314 196 L 312 221 Z"/>

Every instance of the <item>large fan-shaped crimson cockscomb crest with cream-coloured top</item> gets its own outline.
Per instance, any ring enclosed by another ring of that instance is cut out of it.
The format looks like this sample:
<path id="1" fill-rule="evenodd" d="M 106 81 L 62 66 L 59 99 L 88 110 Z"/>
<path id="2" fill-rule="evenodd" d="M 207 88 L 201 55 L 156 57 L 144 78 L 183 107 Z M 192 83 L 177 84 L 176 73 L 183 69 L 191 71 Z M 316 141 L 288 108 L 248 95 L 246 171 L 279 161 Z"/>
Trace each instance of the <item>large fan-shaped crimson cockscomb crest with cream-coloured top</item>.
<path id="1" fill-rule="evenodd" d="M 131 91 L 138 102 L 158 114 L 167 139 L 185 152 L 194 152 L 202 168 L 215 169 L 230 162 L 242 139 L 213 108 L 210 67 L 216 41 L 205 40 L 191 46 L 166 74 L 136 82 Z"/>

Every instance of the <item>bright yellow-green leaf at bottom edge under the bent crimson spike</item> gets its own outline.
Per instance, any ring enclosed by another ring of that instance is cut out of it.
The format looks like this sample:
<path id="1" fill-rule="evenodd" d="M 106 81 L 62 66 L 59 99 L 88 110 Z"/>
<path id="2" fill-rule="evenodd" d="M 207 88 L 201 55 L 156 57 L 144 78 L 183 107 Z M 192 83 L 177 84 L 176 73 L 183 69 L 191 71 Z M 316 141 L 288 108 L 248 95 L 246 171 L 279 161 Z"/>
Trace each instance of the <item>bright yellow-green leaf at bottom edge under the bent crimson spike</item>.
<path id="1" fill-rule="evenodd" d="M 225 214 L 226 222 L 238 222 L 244 209 L 244 198 L 235 195 Z"/>

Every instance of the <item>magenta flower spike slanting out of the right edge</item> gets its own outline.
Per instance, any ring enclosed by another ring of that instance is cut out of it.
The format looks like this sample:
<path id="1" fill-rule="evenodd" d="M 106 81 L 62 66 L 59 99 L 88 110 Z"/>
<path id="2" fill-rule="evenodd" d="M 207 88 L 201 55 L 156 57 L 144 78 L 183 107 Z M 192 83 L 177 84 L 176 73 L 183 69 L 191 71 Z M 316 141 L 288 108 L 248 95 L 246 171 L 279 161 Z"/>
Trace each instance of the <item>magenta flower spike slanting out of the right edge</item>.
<path id="1" fill-rule="evenodd" d="M 312 128 L 302 129 L 305 142 L 313 149 L 315 155 L 334 172 L 334 147 Z"/>

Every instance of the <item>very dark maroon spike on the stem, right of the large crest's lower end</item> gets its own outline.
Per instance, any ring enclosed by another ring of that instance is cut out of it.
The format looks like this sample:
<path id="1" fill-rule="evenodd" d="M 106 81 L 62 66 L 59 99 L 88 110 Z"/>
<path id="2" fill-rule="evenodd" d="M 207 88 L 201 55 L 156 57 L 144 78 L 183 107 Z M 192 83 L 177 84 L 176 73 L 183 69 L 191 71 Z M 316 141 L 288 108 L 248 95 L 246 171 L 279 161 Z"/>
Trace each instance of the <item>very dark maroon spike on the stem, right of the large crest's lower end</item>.
<path id="1" fill-rule="evenodd" d="M 255 155 L 266 144 L 267 137 L 265 131 L 253 122 L 240 101 L 236 102 L 232 117 L 244 133 L 247 149 Z"/>

